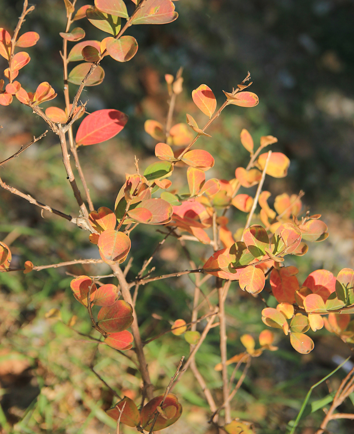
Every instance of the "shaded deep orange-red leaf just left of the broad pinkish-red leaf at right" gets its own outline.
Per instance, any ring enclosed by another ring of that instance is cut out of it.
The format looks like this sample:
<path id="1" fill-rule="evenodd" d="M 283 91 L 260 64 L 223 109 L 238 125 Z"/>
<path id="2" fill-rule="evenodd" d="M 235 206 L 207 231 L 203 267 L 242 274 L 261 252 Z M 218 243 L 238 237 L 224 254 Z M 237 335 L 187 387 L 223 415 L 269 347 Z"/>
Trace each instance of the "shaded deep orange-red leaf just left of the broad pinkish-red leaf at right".
<path id="1" fill-rule="evenodd" d="M 295 291 L 299 289 L 299 284 L 296 276 L 288 275 L 287 268 L 273 269 L 270 273 L 269 282 L 277 302 L 293 304 L 295 303 Z"/>

